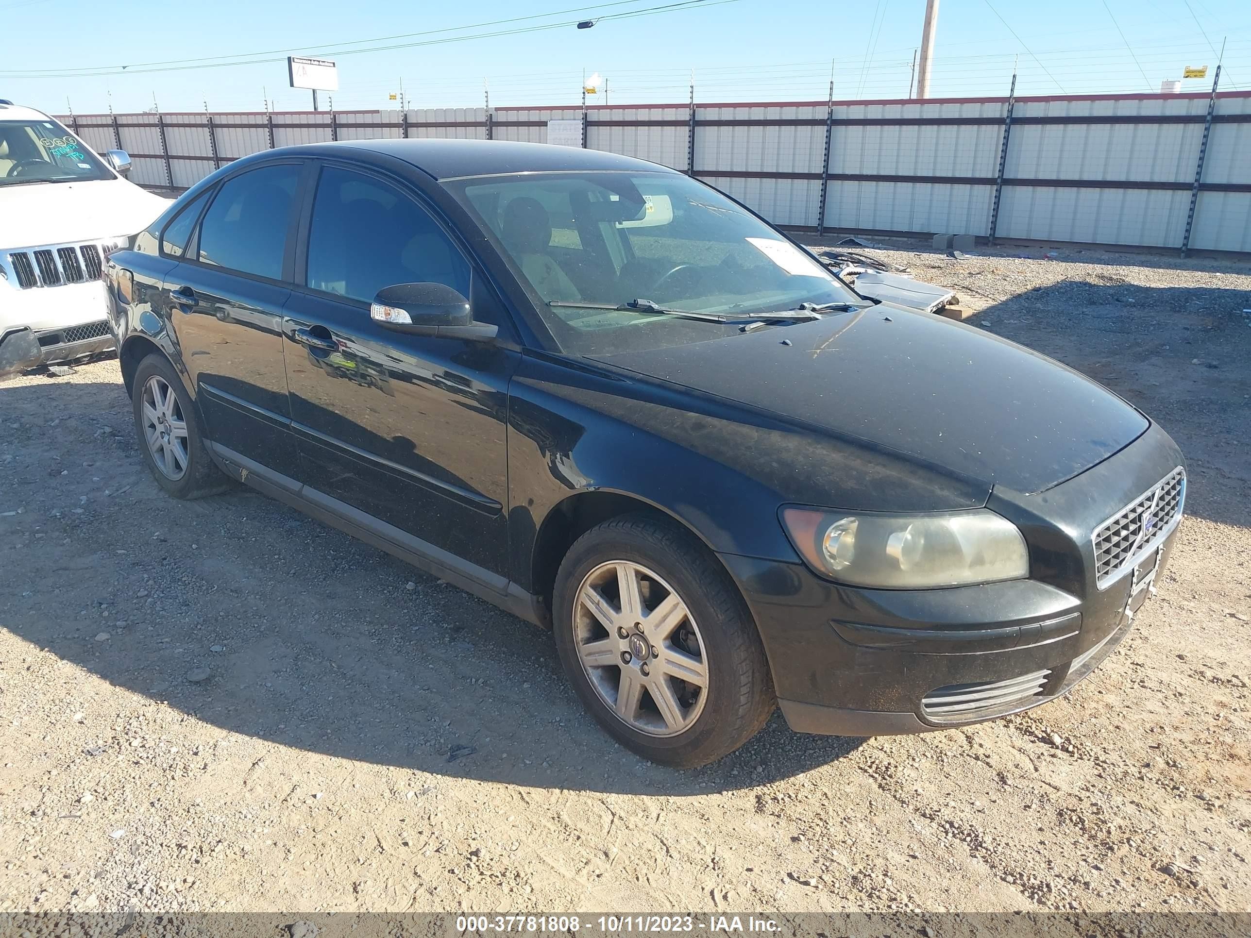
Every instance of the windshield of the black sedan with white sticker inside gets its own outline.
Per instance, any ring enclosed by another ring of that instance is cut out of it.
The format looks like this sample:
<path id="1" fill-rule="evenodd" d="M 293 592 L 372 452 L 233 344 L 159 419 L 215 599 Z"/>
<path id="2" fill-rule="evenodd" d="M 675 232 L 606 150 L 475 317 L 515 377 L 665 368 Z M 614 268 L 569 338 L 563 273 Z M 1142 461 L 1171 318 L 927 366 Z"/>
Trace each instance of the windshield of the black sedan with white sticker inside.
<path id="1" fill-rule="evenodd" d="M 862 303 L 749 211 L 677 173 L 543 173 L 448 186 L 574 354 L 706 341 L 801 304 Z M 709 319 L 649 314 L 637 300 Z"/>

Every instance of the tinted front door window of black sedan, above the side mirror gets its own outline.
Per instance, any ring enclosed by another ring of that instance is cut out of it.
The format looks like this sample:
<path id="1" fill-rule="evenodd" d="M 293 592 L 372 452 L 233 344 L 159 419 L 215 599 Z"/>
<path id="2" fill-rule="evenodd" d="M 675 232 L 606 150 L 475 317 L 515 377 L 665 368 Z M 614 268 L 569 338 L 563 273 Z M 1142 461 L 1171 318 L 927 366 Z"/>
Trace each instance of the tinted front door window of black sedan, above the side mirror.
<path id="1" fill-rule="evenodd" d="M 464 255 L 413 199 L 327 166 L 309 229 L 308 285 L 365 303 L 385 286 L 438 283 L 469 295 Z"/>

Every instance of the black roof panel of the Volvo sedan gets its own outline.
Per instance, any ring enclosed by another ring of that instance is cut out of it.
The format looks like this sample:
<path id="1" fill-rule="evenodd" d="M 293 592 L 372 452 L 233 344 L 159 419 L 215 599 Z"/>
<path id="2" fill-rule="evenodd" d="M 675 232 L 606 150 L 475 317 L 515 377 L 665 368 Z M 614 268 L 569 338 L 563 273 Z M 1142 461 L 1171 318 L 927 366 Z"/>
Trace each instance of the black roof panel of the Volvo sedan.
<path id="1" fill-rule="evenodd" d="M 618 170 L 627 173 L 673 173 L 668 166 L 575 146 L 524 144 L 515 140 L 342 140 L 300 148 L 328 156 L 345 150 L 365 150 L 404 160 L 434 179 L 490 176 L 507 173 L 559 173 Z"/>

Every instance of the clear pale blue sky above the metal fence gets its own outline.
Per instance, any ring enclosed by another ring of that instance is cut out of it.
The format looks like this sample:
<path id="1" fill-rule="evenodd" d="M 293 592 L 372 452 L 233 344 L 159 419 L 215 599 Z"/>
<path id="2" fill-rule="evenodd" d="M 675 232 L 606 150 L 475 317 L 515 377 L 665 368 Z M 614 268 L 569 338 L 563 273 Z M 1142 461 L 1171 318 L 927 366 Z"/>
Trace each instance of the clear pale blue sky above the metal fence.
<path id="1" fill-rule="evenodd" d="M 692 69 L 699 101 L 824 99 L 831 65 L 838 99 L 902 98 L 924 10 L 924 0 L 703 0 L 694 9 L 609 19 L 671 3 L 0 0 L 10 40 L 0 56 L 0 98 L 54 113 L 64 113 L 68 100 L 79 114 L 105 111 L 110 100 L 121 113 L 154 100 L 165 111 L 201 110 L 205 103 L 215 111 L 259 110 L 266 96 L 278 110 L 303 110 L 309 93 L 286 86 L 283 56 L 293 49 L 338 60 L 338 110 L 394 106 L 388 94 L 402 81 L 414 108 L 480 105 L 484 81 L 495 106 L 573 104 L 583 70 L 607 76 L 608 100 L 619 104 L 686 101 Z M 534 18 L 477 25 L 519 16 Z M 563 25 L 350 55 L 344 49 L 400 34 L 443 30 L 348 48 L 594 16 L 605 19 L 587 30 Z M 1018 94 L 1158 90 L 1186 65 L 1215 66 L 1211 45 L 1220 49 L 1225 36 L 1221 86 L 1251 89 L 1247 0 L 942 0 L 932 95 L 1003 94 L 1015 59 Z M 146 65 L 208 56 L 279 60 Z M 118 73 L 121 65 L 125 73 Z M 1183 84 L 1183 90 L 1210 88 L 1211 71 Z"/>

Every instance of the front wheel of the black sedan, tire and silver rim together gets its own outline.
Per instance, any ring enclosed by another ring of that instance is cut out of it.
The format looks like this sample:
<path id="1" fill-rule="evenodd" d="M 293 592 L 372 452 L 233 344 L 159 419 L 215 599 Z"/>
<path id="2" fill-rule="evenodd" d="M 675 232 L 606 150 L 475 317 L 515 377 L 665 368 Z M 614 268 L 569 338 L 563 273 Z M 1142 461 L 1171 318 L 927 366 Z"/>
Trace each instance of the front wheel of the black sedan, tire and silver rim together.
<path id="1" fill-rule="evenodd" d="M 557 574 L 555 642 L 582 703 L 620 743 L 694 768 L 756 735 L 773 687 L 756 624 L 707 548 L 627 515 L 592 528 Z"/>

